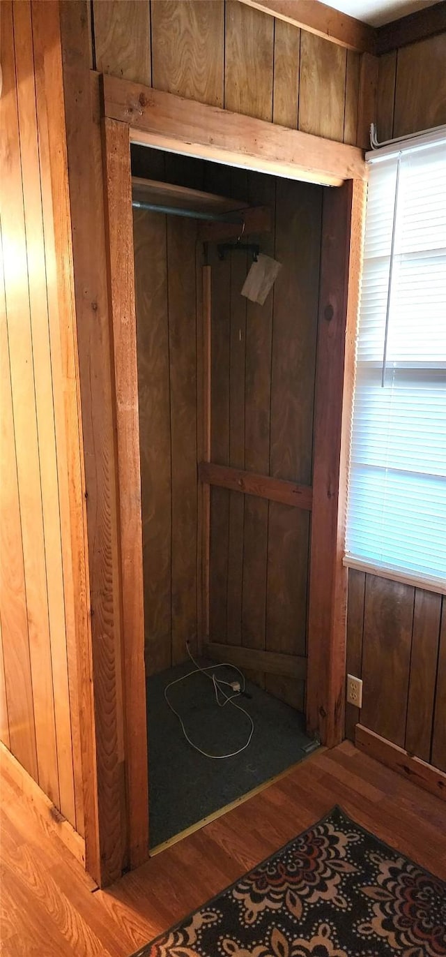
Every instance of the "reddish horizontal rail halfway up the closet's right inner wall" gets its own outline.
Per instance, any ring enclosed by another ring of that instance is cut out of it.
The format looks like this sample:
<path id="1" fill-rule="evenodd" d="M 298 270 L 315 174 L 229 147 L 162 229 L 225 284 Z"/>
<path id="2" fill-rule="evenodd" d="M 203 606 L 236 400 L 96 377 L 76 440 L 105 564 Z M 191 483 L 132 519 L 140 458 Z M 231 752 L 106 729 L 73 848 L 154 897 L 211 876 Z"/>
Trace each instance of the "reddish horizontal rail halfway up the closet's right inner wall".
<path id="1" fill-rule="evenodd" d="M 244 495 L 255 495 L 258 499 L 280 501 L 283 505 L 311 511 L 312 490 L 309 485 L 296 485 L 286 479 L 274 479 L 212 462 L 200 462 L 199 479 L 207 485 L 228 488 L 231 492 L 244 492 Z"/>

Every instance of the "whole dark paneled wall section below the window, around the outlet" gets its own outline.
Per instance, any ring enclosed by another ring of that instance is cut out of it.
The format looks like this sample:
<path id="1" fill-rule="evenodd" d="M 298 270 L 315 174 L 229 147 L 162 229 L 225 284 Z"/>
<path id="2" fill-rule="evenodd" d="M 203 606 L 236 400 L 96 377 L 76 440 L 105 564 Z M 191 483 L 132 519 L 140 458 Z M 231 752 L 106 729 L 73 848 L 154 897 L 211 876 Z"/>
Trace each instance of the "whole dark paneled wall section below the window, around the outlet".
<path id="1" fill-rule="evenodd" d="M 350 568 L 348 670 L 363 680 L 361 723 L 446 770 L 446 599 Z"/>

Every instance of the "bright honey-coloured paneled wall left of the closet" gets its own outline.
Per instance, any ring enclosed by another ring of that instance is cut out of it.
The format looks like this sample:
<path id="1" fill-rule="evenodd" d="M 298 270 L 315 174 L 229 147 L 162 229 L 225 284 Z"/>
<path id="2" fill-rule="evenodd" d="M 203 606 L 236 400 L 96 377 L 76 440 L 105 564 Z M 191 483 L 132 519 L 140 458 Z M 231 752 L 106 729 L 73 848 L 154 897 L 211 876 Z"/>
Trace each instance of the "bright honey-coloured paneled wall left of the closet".
<path id="1" fill-rule="evenodd" d="M 60 127 L 50 167 L 62 94 L 56 39 L 42 5 L 2 3 L 1 740 L 83 835 L 77 636 L 88 629 L 86 560 L 74 315 L 60 281 L 68 183 Z M 68 276 L 68 243 L 63 268 Z"/>

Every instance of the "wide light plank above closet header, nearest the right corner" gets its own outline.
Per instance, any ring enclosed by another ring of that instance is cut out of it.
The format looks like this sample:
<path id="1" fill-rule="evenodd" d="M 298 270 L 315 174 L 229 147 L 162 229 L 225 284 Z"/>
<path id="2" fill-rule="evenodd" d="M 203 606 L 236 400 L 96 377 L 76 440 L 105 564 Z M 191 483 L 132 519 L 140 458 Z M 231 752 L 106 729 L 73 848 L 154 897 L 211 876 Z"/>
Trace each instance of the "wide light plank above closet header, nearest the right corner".
<path id="1" fill-rule="evenodd" d="M 344 138 L 347 50 L 302 31 L 299 129 L 328 140 Z"/>

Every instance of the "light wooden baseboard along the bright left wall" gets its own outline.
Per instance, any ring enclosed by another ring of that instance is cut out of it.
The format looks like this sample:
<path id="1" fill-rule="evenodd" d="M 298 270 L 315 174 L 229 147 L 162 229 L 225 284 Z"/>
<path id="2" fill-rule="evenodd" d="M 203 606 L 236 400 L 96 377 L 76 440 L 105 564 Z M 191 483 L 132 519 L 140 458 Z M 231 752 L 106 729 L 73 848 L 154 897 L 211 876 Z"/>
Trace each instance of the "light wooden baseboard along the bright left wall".
<path id="1" fill-rule="evenodd" d="M 76 860 L 85 868 L 85 840 L 74 831 L 70 821 L 57 811 L 53 802 L 39 788 L 25 768 L 14 758 L 11 751 L 0 742 L 0 769 L 11 779 L 12 783 L 21 791 L 28 803 L 45 821 L 48 831 L 57 835 L 59 840 L 74 855 Z"/>

